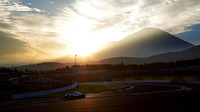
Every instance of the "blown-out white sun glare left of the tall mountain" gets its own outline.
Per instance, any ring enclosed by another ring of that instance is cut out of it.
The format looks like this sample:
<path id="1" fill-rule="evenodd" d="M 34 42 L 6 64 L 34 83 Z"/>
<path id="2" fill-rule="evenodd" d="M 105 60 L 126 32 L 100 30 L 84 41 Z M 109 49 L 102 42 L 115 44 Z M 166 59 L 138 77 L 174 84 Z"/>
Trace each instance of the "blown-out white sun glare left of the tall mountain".
<path id="1" fill-rule="evenodd" d="M 74 19 L 58 22 L 56 33 L 67 41 L 64 55 L 88 56 L 102 49 L 108 41 L 118 40 L 121 34 L 115 29 L 94 30 L 99 25 L 96 20 L 75 14 Z"/>

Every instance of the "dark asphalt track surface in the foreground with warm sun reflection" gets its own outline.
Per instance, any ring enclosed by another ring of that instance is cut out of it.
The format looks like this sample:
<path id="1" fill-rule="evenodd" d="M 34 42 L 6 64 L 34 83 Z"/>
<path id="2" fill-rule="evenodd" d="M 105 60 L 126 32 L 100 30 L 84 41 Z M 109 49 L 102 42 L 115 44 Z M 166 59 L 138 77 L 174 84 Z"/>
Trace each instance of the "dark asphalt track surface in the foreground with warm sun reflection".
<path id="1" fill-rule="evenodd" d="M 199 112 L 198 88 L 128 84 L 134 88 L 87 94 L 85 99 L 38 98 L 0 106 L 0 112 Z"/>

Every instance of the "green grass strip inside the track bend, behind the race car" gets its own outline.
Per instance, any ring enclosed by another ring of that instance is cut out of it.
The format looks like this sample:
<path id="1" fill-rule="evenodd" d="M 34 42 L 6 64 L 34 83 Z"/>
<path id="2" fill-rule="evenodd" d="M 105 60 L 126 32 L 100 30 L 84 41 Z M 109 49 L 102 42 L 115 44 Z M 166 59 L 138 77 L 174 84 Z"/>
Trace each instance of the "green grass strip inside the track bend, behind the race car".
<path id="1" fill-rule="evenodd" d="M 113 87 L 115 87 L 116 89 L 122 89 L 128 86 L 121 84 L 81 84 L 79 87 L 76 87 L 74 89 L 45 96 L 64 96 L 65 93 L 72 93 L 72 92 L 97 93 L 103 91 L 111 91 Z"/>

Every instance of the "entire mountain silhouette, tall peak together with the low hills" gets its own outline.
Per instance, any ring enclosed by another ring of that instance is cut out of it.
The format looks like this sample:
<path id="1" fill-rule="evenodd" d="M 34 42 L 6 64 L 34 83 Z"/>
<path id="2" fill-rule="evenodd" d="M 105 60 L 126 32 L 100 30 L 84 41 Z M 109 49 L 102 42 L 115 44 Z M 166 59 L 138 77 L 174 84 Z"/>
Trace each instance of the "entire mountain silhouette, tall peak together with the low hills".
<path id="1" fill-rule="evenodd" d="M 165 31 L 145 28 L 126 38 L 110 42 L 104 49 L 91 56 L 78 56 L 78 64 L 144 64 L 154 62 L 172 62 L 200 58 L 200 46 L 194 46 Z M 97 61 L 100 60 L 100 61 Z M 74 65 L 74 56 L 63 56 L 51 62 L 18 66 L 18 69 L 52 70 Z"/>

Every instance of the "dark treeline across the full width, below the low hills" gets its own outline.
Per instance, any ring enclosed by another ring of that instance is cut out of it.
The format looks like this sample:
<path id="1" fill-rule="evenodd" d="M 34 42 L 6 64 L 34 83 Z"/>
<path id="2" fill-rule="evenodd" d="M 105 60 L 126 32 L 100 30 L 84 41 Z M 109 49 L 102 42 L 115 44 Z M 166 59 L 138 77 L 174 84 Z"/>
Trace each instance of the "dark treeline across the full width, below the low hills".
<path id="1" fill-rule="evenodd" d="M 175 68 L 188 68 L 193 66 L 200 66 L 200 59 L 193 59 L 193 60 L 181 60 L 176 62 L 158 62 L 158 63 L 149 63 L 149 64 L 92 64 L 92 65 L 76 65 L 78 69 L 84 71 L 95 71 L 95 70 L 150 70 L 150 69 L 175 69 Z M 46 71 L 47 73 L 55 73 L 55 72 L 71 72 L 73 71 L 72 68 L 66 66 L 65 68 L 59 68 L 56 70 Z M 17 69 L 10 69 L 10 68 L 0 68 L 0 73 L 23 73 Z M 34 73 L 31 70 L 25 70 L 26 73 Z M 42 72 L 36 71 L 36 72 Z M 44 71 L 43 71 L 44 72 Z"/>

